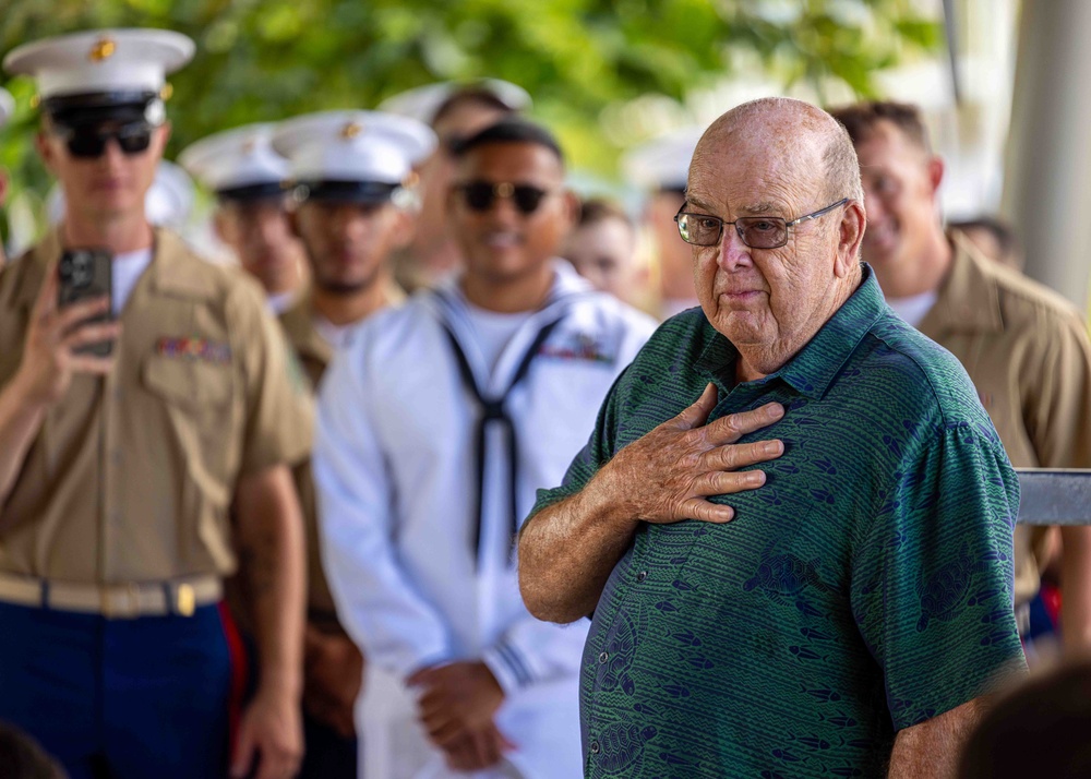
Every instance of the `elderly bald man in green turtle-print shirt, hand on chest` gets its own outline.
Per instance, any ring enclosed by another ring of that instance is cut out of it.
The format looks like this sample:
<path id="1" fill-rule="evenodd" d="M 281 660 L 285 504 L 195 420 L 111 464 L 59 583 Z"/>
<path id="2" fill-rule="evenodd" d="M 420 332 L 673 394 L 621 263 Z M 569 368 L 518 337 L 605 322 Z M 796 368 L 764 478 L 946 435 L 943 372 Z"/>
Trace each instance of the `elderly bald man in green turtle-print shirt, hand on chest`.
<path id="1" fill-rule="evenodd" d="M 740 106 L 697 146 L 676 219 L 702 309 L 630 365 L 519 544 L 531 613 L 594 612 L 588 777 L 949 776 L 1022 663 L 1015 474 L 858 262 L 861 199 L 804 103 Z"/>

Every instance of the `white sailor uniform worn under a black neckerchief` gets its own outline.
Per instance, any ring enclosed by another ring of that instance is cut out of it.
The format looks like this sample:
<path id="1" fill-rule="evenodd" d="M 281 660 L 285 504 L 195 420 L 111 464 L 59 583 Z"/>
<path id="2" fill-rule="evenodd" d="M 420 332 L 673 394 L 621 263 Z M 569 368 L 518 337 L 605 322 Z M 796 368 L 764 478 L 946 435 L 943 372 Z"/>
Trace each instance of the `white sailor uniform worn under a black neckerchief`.
<path id="1" fill-rule="evenodd" d="M 340 620 L 368 658 L 357 702 L 361 776 L 466 776 L 449 774 L 428 744 L 404 680 L 473 659 L 503 687 L 496 724 L 517 746 L 479 776 L 582 774 L 577 675 L 587 624 L 527 612 L 513 519 L 530 511 L 537 489 L 561 483 L 655 323 L 592 291 L 567 263 L 554 266 L 547 304 L 519 324 L 494 370 L 452 281 L 364 322 L 323 382 L 314 455 L 322 551 Z M 480 395 L 503 396 L 553 322 L 503 403 L 515 431 L 517 517 L 506 426 L 488 423 L 479 527 L 482 410 L 464 371 Z"/>

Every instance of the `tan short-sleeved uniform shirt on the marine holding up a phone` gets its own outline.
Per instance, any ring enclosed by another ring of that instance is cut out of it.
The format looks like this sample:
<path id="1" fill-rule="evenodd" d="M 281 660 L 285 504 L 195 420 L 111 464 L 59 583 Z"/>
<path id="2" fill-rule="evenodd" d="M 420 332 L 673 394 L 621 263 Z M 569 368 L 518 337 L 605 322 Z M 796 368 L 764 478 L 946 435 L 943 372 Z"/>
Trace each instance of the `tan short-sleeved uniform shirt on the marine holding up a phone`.
<path id="1" fill-rule="evenodd" d="M 0 271 L 0 386 L 58 233 Z M 0 506 L 0 573 L 152 582 L 236 567 L 240 475 L 302 459 L 312 403 L 261 290 L 157 230 L 106 377 L 76 375 Z"/>

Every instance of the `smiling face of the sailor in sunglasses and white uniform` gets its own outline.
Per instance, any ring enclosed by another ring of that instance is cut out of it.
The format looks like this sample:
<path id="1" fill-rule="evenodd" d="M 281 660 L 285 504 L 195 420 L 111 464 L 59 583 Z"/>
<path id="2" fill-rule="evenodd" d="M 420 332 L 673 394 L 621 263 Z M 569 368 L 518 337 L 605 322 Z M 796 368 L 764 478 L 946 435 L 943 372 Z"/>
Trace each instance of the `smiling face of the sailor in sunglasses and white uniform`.
<path id="1" fill-rule="evenodd" d="M 492 188 L 490 202 L 475 207 L 467 185 Z M 528 204 L 520 188 L 541 193 L 533 208 L 519 207 L 520 199 Z M 540 273 L 556 255 L 575 214 L 574 199 L 564 190 L 561 160 L 551 149 L 528 142 L 490 143 L 467 153 L 448 203 L 452 233 L 466 272 L 489 284 Z"/>

